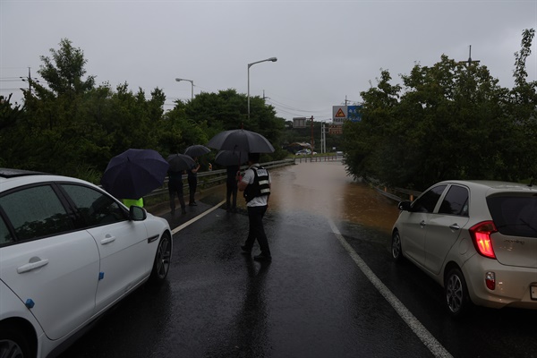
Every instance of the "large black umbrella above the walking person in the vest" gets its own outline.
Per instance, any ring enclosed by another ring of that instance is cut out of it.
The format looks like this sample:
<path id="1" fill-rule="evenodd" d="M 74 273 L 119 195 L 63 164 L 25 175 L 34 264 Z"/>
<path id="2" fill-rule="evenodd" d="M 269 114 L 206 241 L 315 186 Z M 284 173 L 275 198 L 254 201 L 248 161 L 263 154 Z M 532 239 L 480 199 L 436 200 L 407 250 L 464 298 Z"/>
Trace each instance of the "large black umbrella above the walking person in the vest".
<path id="1" fill-rule="evenodd" d="M 219 132 L 207 146 L 221 150 L 240 150 L 248 153 L 272 153 L 274 147 L 260 133 L 243 129 Z"/>

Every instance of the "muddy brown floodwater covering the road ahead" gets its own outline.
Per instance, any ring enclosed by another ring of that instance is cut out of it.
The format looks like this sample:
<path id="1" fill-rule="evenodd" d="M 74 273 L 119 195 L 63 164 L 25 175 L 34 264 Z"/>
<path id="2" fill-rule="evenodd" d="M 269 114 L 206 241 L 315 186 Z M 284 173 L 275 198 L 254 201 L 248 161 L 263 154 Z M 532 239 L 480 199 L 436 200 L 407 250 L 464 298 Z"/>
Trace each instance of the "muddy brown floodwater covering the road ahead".
<path id="1" fill-rule="evenodd" d="M 299 163 L 270 170 L 269 208 L 315 215 L 389 232 L 399 214 L 396 202 L 345 172 L 340 161 Z M 239 193 L 237 205 L 244 207 Z"/>

